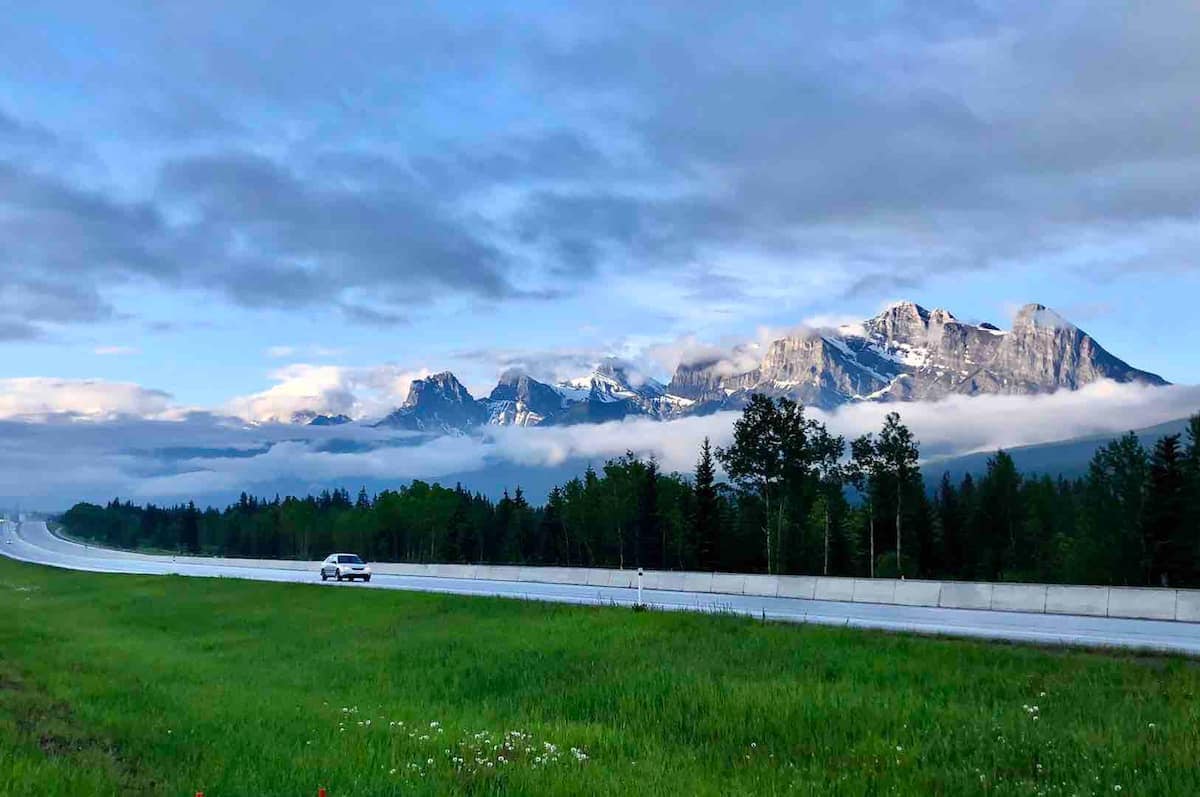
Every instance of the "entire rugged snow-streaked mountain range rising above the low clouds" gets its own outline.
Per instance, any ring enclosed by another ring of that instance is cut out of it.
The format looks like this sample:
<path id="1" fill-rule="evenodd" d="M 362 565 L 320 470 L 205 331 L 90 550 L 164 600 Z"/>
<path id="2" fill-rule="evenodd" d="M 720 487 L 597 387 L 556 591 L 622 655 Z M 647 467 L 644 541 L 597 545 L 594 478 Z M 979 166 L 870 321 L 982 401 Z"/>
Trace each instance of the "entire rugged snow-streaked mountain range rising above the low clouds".
<path id="1" fill-rule="evenodd" d="M 1168 384 L 1105 350 L 1044 305 L 1020 308 L 1009 330 L 959 320 L 946 310 L 898 302 L 860 324 L 802 329 L 737 356 L 680 364 L 667 384 L 616 359 L 558 384 L 511 371 L 476 398 L 449 371 L 413 382 L 404 403 L 374 426 L 468 433 L 488 425 L 547 426 L 628 417 L 668 420 L 738 409 L 756 392 L 833 408 L 858 401 L 1038 394 L 1092 382 Z M 746 364 L 752 362 L 752 367 Z M 298 413 L 294 423 L 336 425 L 346 415 Z"/>

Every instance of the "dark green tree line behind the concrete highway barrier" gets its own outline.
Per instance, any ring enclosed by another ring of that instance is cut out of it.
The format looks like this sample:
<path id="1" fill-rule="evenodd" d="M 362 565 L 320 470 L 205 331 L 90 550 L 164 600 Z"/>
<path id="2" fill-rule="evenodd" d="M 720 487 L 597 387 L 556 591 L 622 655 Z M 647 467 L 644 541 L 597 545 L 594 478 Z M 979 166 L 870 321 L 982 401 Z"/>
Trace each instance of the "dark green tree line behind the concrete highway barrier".
<path id="1" fill-rule="evenodd" d="M 1001 450 L 930 486 L 918 462 L 898 413 L 847 444 L 756 395 L 692 473 L 628 453 L 540 505 L 413 481 L 224 509 L 80 503 L 61 520 L 108 545 L 227 556 L 1200 586 L 1200 415 L 1150 450 L 1132 432 L 1108 443 L 1076 479 L 1021 474 Z"/>

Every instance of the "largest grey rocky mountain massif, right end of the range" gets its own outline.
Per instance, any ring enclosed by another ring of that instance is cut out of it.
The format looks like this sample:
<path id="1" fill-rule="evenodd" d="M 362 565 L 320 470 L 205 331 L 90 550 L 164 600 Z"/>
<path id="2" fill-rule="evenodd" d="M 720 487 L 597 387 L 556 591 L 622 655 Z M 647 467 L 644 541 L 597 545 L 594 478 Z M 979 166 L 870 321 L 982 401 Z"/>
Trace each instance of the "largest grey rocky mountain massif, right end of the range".
<path id="1" fill-rule="evenodd" d="M 860 326 L 776 340 L 751 371 L 726 373 L 721 362 L 680 366 L 667 389 L 709 407 L 738 407 L 763 392 L 829 408 L 851 401 L 1074 390 L 1099 379 L 1166 384 L 1112 356 L 1043 305 L 1022 307 L 1004 331 L 900 302 Z"/>

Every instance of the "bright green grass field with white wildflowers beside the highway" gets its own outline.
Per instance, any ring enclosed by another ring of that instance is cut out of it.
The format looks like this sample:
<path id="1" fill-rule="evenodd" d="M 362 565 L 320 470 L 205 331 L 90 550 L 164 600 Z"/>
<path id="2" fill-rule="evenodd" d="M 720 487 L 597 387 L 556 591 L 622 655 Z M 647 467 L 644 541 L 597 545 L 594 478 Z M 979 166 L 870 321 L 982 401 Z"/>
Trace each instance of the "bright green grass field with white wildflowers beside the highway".
<path id="1" fill-rule="evenodd" d="M 0 561 L 11 795 L 1196 795 L 1198 699 L 1187 659 Z"/>

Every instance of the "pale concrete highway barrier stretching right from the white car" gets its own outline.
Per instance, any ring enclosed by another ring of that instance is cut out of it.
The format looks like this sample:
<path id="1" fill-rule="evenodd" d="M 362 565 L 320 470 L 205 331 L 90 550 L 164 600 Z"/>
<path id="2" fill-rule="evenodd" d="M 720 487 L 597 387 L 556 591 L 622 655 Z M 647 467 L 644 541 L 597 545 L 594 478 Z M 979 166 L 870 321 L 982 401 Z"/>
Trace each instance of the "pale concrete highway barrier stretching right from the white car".
<path id="1" fill-rule="evenodd" d="M 637 570 L 602 568 L 545 568 L 491 564 L 371 565 L 380 575 L 527 581 L 589 587 L 637 586 Z M 1072 585 L 990 583 L 980 581 L 925 581 L 851 579 L 841 576 L 769 576 L 738 573 L 646 570 L 646 589 L 712 592 L 766 598 L 805 598 L 856 604 L 894 604 L 941 609 L 974 609 L 1039 615 L 1081 615 L 1169 619 L 1200 623 L 1200 589 L 1153 587 L 1087 587 Z"/>

